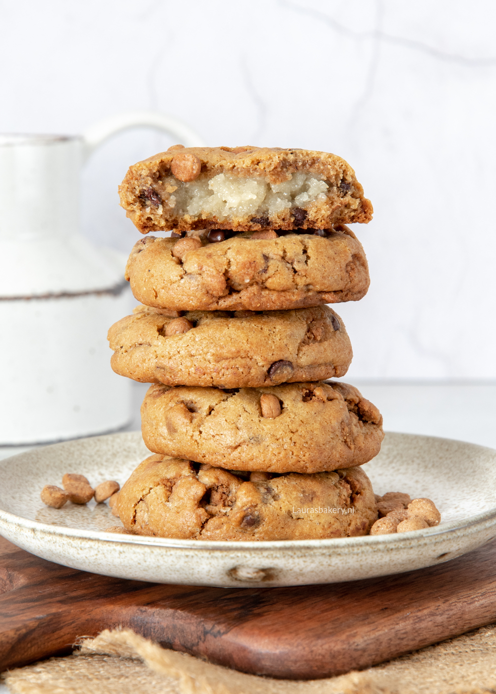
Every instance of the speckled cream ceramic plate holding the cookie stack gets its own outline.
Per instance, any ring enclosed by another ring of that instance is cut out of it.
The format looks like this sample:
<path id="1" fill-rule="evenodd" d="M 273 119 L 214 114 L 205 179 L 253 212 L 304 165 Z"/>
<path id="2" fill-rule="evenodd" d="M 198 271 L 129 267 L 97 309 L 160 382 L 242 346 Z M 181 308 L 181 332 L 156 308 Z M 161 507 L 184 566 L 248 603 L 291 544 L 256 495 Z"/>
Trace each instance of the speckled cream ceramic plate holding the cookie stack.
<path id="1" fill-rule="evenodd" d="M 296 586 L 399 573 L 459 557 L 496 536 L 496 450 L 449 439 L 386 434 L 364 466 L 379 494 L 435 500 L 438 527 L 404 534 L 273 542 L 170 540 L 105 532 L 106 504 L 40 501 L 65 472 L 122 484 L 149 451 L 139 433 L 79 439 L 0 462 L 0 533 L 58 564 L 142 581 L 208 586 Z"/>

